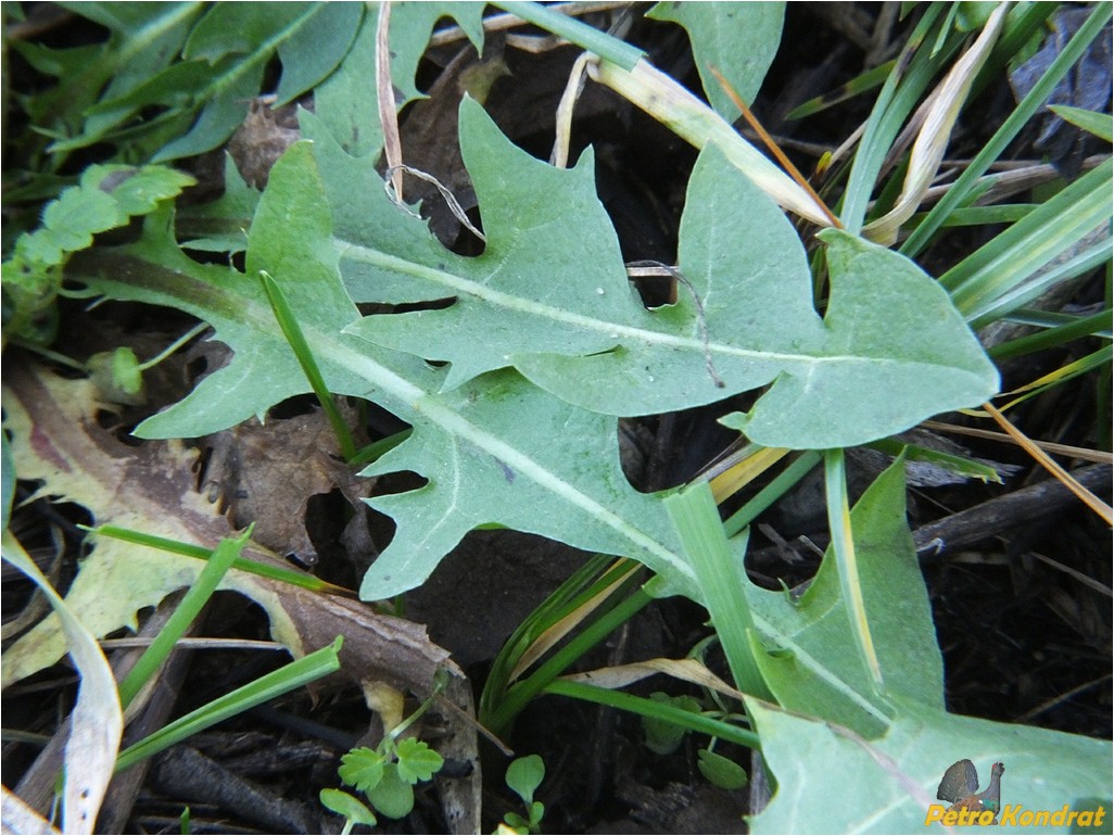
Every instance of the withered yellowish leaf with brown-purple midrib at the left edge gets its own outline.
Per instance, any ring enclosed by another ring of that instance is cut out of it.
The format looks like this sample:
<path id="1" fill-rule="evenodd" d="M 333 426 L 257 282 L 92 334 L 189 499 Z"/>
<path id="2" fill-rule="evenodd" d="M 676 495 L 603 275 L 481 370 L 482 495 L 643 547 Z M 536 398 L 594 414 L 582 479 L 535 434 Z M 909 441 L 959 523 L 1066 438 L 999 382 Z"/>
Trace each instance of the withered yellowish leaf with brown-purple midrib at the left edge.
<path id="1" fill-rule="evenodd" d="M 97 422 L 98 404 L 85 380 L 65 380 L 33 363 L 4 376 L 7 429 L 16 472 L 40 479 L 40 496 L 84 505 L 96 523 L 215 547 L 232 534 L 228 522 L 194 488 L 197 454 L 179 441 L 130 447 Z M 263 548 L 254 561 L 277 563 Z M 101 538 L 86 558 L 66 602 L 97 636 L 136 624 L 136 613 L 190 584 L 201 561 Z M 294 655 L 343 635 L 341 660 L 360 680 L 383 680 L 429 693 L 440 668 L 459 669 L 419 624 L 378 615 L 370 607 L 233 571 L 222 589 L 247 595 L 271 620 L 271 632 Z M 66 652 L 55 616 L 48 616 L 4 653 L 3 686 L 53 664 Z"/>

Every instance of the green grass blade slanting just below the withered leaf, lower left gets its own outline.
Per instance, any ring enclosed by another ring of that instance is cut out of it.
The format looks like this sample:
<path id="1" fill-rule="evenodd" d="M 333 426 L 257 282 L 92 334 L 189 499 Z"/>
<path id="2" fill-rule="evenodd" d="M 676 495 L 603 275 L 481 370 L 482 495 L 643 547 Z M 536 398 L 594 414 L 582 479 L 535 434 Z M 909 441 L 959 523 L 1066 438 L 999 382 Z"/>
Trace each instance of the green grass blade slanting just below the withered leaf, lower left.
<path id="1" fill-rule="evenodd" d="M 145 737 L 120 752 L 120 757 L 116 760 L 116 771 L 121 772 L 144 758 L 157 755 L 222 720 L 340 670 L 341 662 L 338 653 L 341 643 L 342 639 L 338 636 L 328 648 L 314 651 L 265 677 L 260 677 L 254 682 L 237 688 L 232 693 L 215 699 L 196 711 L 190 711 L 185 717 L 163 727 L 154 735 Z"/>

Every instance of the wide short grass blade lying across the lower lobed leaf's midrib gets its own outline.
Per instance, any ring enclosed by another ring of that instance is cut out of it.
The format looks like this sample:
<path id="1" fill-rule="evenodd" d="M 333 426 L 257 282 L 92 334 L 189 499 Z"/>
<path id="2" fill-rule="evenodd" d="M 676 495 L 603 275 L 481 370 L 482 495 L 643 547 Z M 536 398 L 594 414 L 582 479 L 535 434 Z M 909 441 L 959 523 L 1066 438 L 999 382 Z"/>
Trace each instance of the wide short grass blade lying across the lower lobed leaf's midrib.
<path id="1" fill-rule="evenodd" d="M 751 643 L 751 636 L 758 632 L 743 595 L 743 584 L 747 583 L 743 555 L 731 553 L 712 488 L 706 482 L 696 483 L 666 497 L 665 509 L 688 555 L 701 597 L 712 615 L 739 689 L 772 700 Z"/>

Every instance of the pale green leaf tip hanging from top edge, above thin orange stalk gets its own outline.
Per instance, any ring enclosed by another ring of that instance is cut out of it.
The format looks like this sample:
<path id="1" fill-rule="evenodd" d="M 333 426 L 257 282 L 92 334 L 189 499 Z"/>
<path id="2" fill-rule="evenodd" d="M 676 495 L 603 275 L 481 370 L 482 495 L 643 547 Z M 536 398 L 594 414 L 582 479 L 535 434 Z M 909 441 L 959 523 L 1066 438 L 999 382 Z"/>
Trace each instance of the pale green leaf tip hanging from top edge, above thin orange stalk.
<path id="1" fill-rule="evenodd" d="M 740 110 L 709 67 L 723 74 L 740 98 L 751 104 L 781 43 L 785 4 L 662 2 L 646 17 L 685 28 L 707 100 L 724 119 L 734 121 Z"/>

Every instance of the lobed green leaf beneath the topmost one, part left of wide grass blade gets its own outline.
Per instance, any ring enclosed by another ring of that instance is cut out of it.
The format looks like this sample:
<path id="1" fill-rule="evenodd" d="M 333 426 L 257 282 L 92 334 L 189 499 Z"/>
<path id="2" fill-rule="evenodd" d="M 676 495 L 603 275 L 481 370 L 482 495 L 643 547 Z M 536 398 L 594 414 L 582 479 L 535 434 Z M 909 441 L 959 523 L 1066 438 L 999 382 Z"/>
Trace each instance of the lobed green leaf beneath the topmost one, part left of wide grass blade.
<path id="1" fill-rule="evenodd" d="M 364 472 L 410 470 L 429 483 L 371 500 L 398 528 L 364 577 L 363 597 L 417 586 L 467 532 L 492 523 L 629 555 L 663 574 L 673 592 L 692 594 L 691 571 L 657 499 L 623 474 L 614 418 L 558 400 L 511 370 L 442 395 L 443 369 L 342 333 L 359 312 L 340 282 L 321 186 L 307 143 L 278 161 L 252 224 L 247 275 L 187 259 L 169 212 L 150 216 L 136 244 L 98 250 L 74 265 L 75 276 L 106 295 L 197 315 L 235 352 L 136 434 L 205 435 L 307 391 L 257 279 L 266 270 L 299 315 L 330 390 L 374 400 L 413 425 Z"/>

